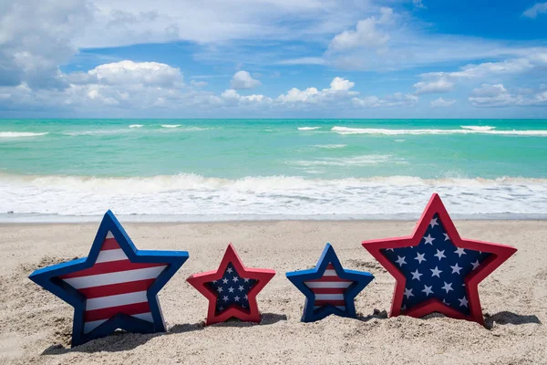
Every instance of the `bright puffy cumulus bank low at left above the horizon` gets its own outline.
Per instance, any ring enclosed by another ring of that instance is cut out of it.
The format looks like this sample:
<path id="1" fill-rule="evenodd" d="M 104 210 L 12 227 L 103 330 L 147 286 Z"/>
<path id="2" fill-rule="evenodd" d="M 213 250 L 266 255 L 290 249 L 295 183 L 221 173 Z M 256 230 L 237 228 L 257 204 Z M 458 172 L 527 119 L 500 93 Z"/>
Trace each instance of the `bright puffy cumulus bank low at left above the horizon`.
<path id="1" fill-rule="evenodd" d="M 32 89 L 25 82 L 0 88 L 0 106 L 47 110 L 207 109 L 222 104 L 209 92 L 185 86 L 179 68 L 129 60 L 99 65 L 88 72 L 61 74 L 64 89 Z"/>

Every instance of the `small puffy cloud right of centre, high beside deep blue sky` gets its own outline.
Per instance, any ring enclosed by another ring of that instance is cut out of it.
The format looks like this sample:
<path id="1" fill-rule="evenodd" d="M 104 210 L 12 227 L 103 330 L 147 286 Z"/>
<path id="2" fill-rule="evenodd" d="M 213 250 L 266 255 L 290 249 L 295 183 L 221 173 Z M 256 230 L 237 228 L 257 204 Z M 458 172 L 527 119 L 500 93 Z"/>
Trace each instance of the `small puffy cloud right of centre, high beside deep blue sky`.
<path id="1" fill-rule="evenodd" d="M 328 49 L 330 51 L 343 51 L 357 47 L 384 46 L 389 40 L 389 36 L 380 31 L 377 26 L 388 24 L 392 15 L 393 10 L 391 8 L 382 7 L 379 19 L 376 16 L 370 16 L 358 21 L 355 30 L 346 30 L 335 36 Z"/>

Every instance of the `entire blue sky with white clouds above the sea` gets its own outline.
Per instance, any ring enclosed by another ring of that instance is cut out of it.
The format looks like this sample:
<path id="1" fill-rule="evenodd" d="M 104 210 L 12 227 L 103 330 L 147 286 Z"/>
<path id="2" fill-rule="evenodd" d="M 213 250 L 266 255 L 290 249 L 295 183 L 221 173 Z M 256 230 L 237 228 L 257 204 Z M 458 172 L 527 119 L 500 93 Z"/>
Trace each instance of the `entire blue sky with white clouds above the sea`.
<path id="1" fill-rule="evenodd" d="M 0 2 L 0 118 L 142 117 L 547 118 L 547 2 Z"/>

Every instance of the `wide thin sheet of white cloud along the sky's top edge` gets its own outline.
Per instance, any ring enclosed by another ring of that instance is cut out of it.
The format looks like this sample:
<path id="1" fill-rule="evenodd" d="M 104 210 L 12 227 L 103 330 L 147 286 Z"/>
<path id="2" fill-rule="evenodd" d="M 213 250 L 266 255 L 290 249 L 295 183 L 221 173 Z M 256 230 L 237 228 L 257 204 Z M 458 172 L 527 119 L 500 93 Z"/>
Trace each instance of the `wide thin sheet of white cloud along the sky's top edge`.
<path id="1" fill-rule="evenodd" d="M 94 21 L 79 47 L 118 47 L 185 40 L 199 44 L 245 39 L 301 39 L 339 32 L 372 7 L 336 0 L 94 0 Z M 280 22 L 280 19 L 284 19 Z"/>

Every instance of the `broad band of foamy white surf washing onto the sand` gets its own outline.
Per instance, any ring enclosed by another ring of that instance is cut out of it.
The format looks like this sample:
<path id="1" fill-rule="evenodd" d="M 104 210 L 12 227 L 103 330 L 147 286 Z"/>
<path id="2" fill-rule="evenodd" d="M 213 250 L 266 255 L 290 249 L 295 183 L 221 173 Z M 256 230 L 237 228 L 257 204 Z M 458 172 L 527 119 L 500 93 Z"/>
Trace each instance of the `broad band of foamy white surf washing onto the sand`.
<path id="1" fill-rule="evenodd" d="M 193 174 L 132 178 L 2 174 L 0 214 L 87 216 L 112 209 L 128 215 L 209 217 L 205 220 L 418 216 L 431 193 L 440 194 L 451 214 L 547 214 L 546 179 L 254 176 L 232 180 Z"/>

